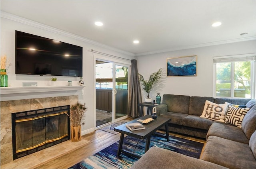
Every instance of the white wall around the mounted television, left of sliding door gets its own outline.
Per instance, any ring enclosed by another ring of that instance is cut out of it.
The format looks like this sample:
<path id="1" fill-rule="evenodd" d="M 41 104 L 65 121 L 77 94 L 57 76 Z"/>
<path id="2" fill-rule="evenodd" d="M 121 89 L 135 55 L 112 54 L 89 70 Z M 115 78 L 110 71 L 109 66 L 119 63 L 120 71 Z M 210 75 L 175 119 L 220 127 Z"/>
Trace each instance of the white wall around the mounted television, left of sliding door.
<path id="1" fill-rule="evenodd" d="M 12 63 L 7 70 L 8 74 L 8 83 L 12 87 L 22 86 L 22 82 L 38 82 L 38 86 L 48 86 L 49 78 L 51 76 L 39 76 L 39 75 L 15 75 L 15 30 L 23 31 L 26 33 L 31 33 L 34 35 L 39 35 L 42 37 L 47 37 L 50 39 L 56 39 L 59 41 L 63 41 L 66 43 L 71 43 L 74 45 L 83 47 L 83 78 L 85 82 L 84 87 L 84 95 L 81 95 L 81 92 L 76 92 L 78 94 L 78 99 L 81 103 L 86 103 L 86 107 L 88 107 L 85 114 L 85 125 L 82 126 L 82 134 L 86 134 L 87 132 L 91 132 L 94 129 L 95 120 L 95 98 L 94 98 L 94 88 L 95 88 L 95 54 L 90 52 L 90 49 L 94 49 L 96 51 L 101 51 L 104 53 L 108 53 L 110 55 L 123 57 L 127 59 L 134 59 L 134 56 L 126 55 L 124 53 L 120 53 L 118 50 L 111 50 L 111 47 L 102 47 L 104 45 L 94 45 L 95 43 L 88 43 L 86 40 L 81 40 L 79 38 L 72 38 L 70 34 L 65 35 L 65 32 L 61 30 L 56 30 L 54 28 L 49 28 L 47 26 L 43 26 L 32 21 L 21 19 L 20 22 L 18 18 L 18 22 L 13 19 L 2 18 L 1 16 L 1 57 L 3 55 L 7 56 L 7 60 Z M 31 23 L 32 24 L 31 24 Z M 118 52 L 117 52 L 118 51 Z M 97 54 L 98 55 L 98 54 Z M 100 55 L 99 55 L 100 56 Z M 102 59 L 106 60 L 116 60 L 109 58 L 107 56 L 100 56 Z M 119 59 L 120 60 L 120 59 Z M 77 85 L 77 82 L 80 80 L 78 77 L 60 77 L 58 76 L 58 85 L 64 86 L 67 85 L 67 81 L 72 81 L 73 85 Z M 65 92 L 63 92 L 65 93 Z M 54 94 L 42 94 L 40 97 L 52 97 L 63 94 L 58 94 L 55 92 Z"/>

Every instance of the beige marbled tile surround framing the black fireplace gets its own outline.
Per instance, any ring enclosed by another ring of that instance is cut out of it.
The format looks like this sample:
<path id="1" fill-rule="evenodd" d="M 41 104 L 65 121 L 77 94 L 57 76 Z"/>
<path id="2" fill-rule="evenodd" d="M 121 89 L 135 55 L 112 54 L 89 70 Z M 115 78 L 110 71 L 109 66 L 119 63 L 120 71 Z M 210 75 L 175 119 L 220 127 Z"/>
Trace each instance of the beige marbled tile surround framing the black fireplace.
<path id="1" fill-rule="evenodd" d="M 50 107 L 56 107 L 56 106 L 71 105 L 71 104 L 75 104 L 77 101 L 78 101 L 78 95 L 2 101 L 1 110 L 0 110 L 1 111 L 0 112 L 1 113 L 0 114 L 1 116 L 1 167 L 6 163 L 16 161 L 16 160 L 13 161 L 12 159 L 12 117 L 11 117 L 12 113 L 50 108 Z M 65 142 L 67 142 L 66 144 L 70 144 L 68 143 L 70 141 L 65 141 Z M 63 144 L 61 146 L 63 146 Z M 54 146 L 48 147 L 47 148 L 48 150 L 46 149 L 46 151 L 51 151 L 51 148 L 54 149 Z M 40 153 L 38 154 L 40 155 Z M 25 156 L 22 158 L 27 159 L 28 157 Z M 20 160 L 22 160 L 22 158 L 20 158 Z M 33 161 L 33 159 L 30 159 L 30 161 Z"/>

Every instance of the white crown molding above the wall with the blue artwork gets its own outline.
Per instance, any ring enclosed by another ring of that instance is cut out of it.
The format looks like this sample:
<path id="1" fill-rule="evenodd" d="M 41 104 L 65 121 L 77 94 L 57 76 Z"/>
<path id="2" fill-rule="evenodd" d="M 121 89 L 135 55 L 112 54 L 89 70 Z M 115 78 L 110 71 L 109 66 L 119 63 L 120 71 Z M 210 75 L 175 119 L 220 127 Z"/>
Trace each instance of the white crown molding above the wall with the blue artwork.
<path id="1" fill-rule="evenodd" d="M 144 53 L 135 53 L 134 56 L 142 56 L 142 55 L 151 55 L 156 53 L 163 53 L 163 52 L 170 52 L 170 51 L 178 51 L 178 50 L 184 50 L 184 49 L 192 49 L 197 47 L 207 47 L 207 46 L 213 46 L 213 45 L 222 45 L 226 43 L 235 43 L 235 42 L 241 42 L 241 41 L 250 41 L 255 40 L 256 36 L 250 36 L 250 37 L 244 37 L 244 38 L 238 38 L 238 39 L 230 39 L 225 41 L 216 41 L 216 42 L 209 42 L 209 43 L 201 43 L 198 45 L 191 45 L 186 47 L 180 47 L 180 48 L 171 48 L 171 49 L 164 49 L 159 51 L 150 51 L 150 52 L 144 52 Z"/>

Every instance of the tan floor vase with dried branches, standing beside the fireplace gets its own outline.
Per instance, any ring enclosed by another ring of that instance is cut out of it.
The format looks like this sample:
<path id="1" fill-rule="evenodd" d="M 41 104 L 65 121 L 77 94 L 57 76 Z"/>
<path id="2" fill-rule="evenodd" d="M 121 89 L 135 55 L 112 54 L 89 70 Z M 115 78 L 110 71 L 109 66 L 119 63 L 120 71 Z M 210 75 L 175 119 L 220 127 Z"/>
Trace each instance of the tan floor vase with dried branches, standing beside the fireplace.
<path id="1" fill-rule="evenodd" d="M 81 140 L 81 121 L 83 119 L 84 113 L 86 112 L 87 107 L 85 104 L 76 102 L 70 106 L 70 135 L 71 141 L 80 141 Z M 84 123 L 82 123 L 84 125 Z"/>

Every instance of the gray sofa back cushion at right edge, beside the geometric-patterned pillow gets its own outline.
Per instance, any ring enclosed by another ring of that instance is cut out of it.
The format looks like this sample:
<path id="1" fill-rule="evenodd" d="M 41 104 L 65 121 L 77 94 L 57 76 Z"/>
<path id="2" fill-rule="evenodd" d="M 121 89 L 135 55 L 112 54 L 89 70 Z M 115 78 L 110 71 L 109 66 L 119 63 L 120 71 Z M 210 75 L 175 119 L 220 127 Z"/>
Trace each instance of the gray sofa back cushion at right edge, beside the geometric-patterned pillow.
<path id="1" fill-rule="evenodd" d="M 244 134 L 250 139 L 252 136 L 252 133 L 255 131 L 256 128 L 256 105 L 254 105 L 250 108 L 250 110 L 246 113 L 244 116 L 244 119 L 242 121 L 242 130 L 244 131 Z"/>

